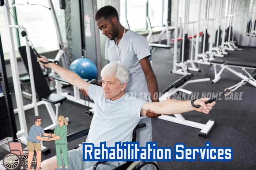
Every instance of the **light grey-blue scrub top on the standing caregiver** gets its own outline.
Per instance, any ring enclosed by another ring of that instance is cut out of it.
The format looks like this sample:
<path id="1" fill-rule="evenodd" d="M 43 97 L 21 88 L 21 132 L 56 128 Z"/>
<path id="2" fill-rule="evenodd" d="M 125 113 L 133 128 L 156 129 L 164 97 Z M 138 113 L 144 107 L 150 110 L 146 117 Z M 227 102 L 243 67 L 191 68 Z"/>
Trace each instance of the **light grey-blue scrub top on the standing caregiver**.
<path id="1" fill-rule="evenodd" d="M 121 41 L 123 39 L 123 44 L 121 47 Z M 145 74 L 142 70 L 139 60 L 150 56 L 150 50 L 147 40 L 144 36 L 137 32 L 128 30 L 124 37 L 122 37 L 120 43 L 118 43 L 118 50 L 120 55 L 121 63 L 124 64 L 129 71 L 130 79 L 126 87 L 126 91 L 129 95 L 133 92 L 133 95 L 142 92 L 148 93 L 147 81 Z M 121 48 L 121 51 L 120 51 Z M 108 39 L 105 45 L 105 59 L 111 62 L 118 62 L 117 45 L 115 41 Z M 139 81 L 138 81 L 139 80 Z"/>

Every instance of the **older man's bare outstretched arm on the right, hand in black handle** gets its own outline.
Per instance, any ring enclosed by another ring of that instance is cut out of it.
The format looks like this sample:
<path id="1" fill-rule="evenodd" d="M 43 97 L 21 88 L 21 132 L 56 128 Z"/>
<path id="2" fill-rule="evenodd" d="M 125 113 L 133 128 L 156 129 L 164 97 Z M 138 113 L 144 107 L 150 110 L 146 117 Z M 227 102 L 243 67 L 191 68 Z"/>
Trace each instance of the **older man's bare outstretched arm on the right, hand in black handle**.
<path id="1" fill-rule="evenodd" d="M 145 103 L 142 106 L 140 115 L 146 116 L 146 110 L 151 110 L 157 114 L 180 114 L 196 110 L 208 114 L 216 102 L 205 104 L 208 98 L 202 98 L 194 101 L 194 104 L 200 105 L 201 107 L 195 108 L 191 105 L 191 100 L 164 100 L 162 102 Z"/>

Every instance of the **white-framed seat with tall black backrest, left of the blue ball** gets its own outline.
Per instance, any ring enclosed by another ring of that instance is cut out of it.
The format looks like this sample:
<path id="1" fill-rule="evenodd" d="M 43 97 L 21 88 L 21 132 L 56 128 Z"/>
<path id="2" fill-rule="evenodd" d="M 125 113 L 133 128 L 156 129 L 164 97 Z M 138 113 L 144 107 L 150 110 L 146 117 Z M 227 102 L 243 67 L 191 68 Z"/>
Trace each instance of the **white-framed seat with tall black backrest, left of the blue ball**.
<path id="1" fill-rule="evenodd" d="M 19 47 L 19 52 L 20 52 L 22 61 L 25 64 L 26 70 L 27 72 L 29 72 L 26 46 Z M 49 112 L 50 118 L 52 119 L 52 122 L 53 122 L 52 125 L 46 127 L 44 130 L 54 129 L 57 125 L 59 125 L 59 123 L 57 122 L 59 106 L 60 104 L 63 103 L 64 100 L 67 100 L 67 98 L 59 94 L 54 94 L 50 91 L 48 83 L 45 79 L 45 75 L 43 74 L 41 66 L 37 62 L 37 57 L 34 54 L 34 51 L 32 50 L 31 47 L 30 47 L 30 55 L 31 55 L 33 73 L 34 73 L 35 91 L 37 93 L 38 100 L 40 100 L 39 102 L 37 102 L 37 106 L 41 104 L 45 104 Z M 56 114 L 53 110 L 52 103 L 55 104 L 56 106 Z M 34 107 L 34 104 L 30 103 L 24 106 L 24 110 L 29 110 L 30 108 L 33 108 L 33 107 Z M 15 109 L 14 112 L 17 113 L 18 109 Z"/>

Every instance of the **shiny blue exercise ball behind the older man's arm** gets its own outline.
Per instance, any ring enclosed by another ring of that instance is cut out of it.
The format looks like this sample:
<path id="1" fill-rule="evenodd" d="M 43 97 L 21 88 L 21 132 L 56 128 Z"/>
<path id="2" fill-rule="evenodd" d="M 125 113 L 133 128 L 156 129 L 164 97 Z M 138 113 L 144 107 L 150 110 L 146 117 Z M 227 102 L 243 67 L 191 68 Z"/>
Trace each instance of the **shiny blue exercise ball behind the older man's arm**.
<path id="1" fill-rule="evenodd" d="M 87 58 L 79 58 L 74 60 L 69 68 L 69 70 L 74 71 L 83 79 L 96 79 L 98 75 L 98 70 L 96 65 Z"/>

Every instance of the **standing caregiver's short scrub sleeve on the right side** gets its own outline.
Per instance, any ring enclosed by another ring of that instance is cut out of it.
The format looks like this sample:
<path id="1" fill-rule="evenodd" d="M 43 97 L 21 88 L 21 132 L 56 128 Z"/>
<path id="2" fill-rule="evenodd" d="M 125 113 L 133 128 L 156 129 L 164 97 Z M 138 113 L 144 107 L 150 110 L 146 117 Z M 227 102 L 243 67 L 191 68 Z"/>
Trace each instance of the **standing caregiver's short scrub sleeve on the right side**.
<path id="1" fill-rule="evenodd" d="M 151 55 L 147 40 L 142 35 L 138 35 L 134 38 L 132 41 L 132 48 L 138 60 Z"/>

